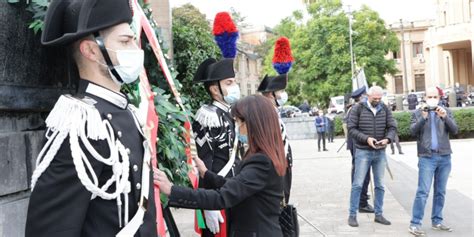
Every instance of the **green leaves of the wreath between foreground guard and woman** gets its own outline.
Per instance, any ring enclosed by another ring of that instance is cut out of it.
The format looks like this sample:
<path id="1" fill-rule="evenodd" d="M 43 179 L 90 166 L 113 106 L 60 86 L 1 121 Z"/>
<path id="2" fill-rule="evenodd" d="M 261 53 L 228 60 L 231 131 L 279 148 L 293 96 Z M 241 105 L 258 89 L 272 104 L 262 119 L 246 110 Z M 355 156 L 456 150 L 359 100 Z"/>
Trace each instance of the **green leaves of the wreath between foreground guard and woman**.
<path id="1" fill-rule="evenodd" d="M 148 8 L 144 8 L 150 22 L 152 20 L 151 11 Z M 152 24 L 158 39 L 161 38 L 159 29 L 156 25 Z M 185 153 L 186 141 L 183 135 L 186 130 L 183 127 L 186 121 L 186 116 L 190 117 L 190 107 L 186 106 L 185 113 L 182 111 L 177 104 L 175 98 L 171 96 L 172 92 L 169 88 L 168 82 L 164 77 L 164 73 L 161 70 L 158 61 L 156 60 L 154 53 L 149 43 L 142 39 L 142 45 L 145 45 L 145 68 L 147 69 L 148 79 L 152 86 L 152 90 L 155 93 L 155 108 L 159 117 L 158 124 L 158 140 L 157 140 L 157 158 L 160 170 L 164 171 L 170 180 L 177 185 L 189 186 L 190 182 L 188 179 L 189 166 L 186 163 L 187 157 Z M 163 47 L 163 41 L 159 40 L 162 50 L 164 52 L 168 49 Z M 180 92 L 183 91 L 181 83 L 177 80 L 178 72 L 175 71 L 173 63 L 167 60 L 167 64 L 171 71 L 172 80 L 175 83 L 176 89 Z M 132 96 L 129 93 L 129 97 Z M 181 94 L 181 99 L 186 105 L 189 101 L 187 93 Z M 162 199 L 163 200 L 163 199 Z"/>

